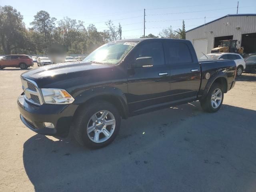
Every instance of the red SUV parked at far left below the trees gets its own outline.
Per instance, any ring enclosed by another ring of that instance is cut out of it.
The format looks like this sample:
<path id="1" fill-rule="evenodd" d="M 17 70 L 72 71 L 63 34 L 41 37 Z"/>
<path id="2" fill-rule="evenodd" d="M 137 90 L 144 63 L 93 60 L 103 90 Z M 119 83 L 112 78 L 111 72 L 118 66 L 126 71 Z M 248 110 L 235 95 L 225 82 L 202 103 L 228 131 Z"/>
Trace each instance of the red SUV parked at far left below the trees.
<path id="1" fill-rule="evenodd" d="M 19 67 L 21 69 L 26 69 L 33 65 L 33 60 L 28 55 L 7 55 L 0 58 L 1 69 L 5 67 Z"/>

